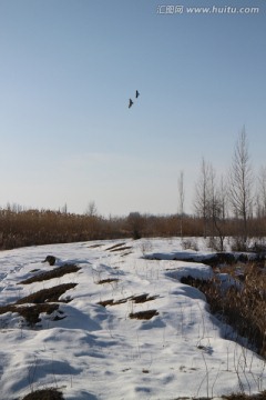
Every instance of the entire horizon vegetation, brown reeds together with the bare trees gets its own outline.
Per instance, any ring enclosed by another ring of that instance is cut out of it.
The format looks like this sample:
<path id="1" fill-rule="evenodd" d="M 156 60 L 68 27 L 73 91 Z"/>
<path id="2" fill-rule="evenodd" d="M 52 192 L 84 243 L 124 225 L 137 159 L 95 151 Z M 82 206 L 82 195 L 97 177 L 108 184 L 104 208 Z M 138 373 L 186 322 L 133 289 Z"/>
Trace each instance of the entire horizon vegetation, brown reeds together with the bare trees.
<path id="1" fill-rule="evenodd" d="M 217 177 L 212 163 L 202 160 L 195 184 L 194 214 L 184 212 L 184 173 L 178 179 L 178 210 L 152 216 L 131 212 L 125 217 L 102 217 L 90 202 L 83 214 L 23 209 L 7 204 L 0 209 L 0 249 L 88 240 L 141 237 L 207 237 L 209 246 L 223 251 L 226 237 L 235 249 L 245 250 L 248 238 L 266 237 L 266 168 L 256 179 L 252 169 L 247 136 L 243 128 L 226 177 Z"/>

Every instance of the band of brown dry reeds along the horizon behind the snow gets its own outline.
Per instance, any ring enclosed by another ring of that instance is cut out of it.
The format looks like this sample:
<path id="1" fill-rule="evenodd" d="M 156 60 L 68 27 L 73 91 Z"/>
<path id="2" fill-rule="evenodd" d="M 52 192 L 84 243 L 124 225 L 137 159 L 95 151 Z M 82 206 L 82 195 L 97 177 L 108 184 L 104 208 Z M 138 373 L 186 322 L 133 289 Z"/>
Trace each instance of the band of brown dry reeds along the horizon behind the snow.
<path id="1" fill-rule="evenodd" d="M 235 218 L 223 219 L 218 226 L 217 221 L 214 224 L 209 220 L 206 224 L 206 219 L 187 214 L 133 212 L 126 217 L 104 218 L 99 214 L 7 208 L 0 209 L 0 249 L 120 238 L 205 236 L 209 240 L 216 238 L 217 250 L 223 250 L 225 237 L 242 238 L 242 222 Z M 247 227 L 248 237 L 266 236 L 265 217 L 249 219 Z"/>

